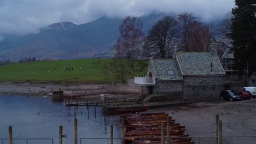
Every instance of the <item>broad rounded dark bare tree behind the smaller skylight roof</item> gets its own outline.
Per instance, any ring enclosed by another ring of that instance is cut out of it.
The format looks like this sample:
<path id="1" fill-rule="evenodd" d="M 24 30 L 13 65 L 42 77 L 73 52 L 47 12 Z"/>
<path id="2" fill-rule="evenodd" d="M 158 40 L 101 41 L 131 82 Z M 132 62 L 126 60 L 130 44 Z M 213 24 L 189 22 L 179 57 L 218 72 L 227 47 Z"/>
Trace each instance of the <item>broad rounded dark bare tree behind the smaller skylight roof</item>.
<path id="1" fill-rule="evenodd" d="M 146 37 L 143 52 L 146 57 L 171 57 L 178 37 L 178 22 L 171 16 L 159 20 Z"/>

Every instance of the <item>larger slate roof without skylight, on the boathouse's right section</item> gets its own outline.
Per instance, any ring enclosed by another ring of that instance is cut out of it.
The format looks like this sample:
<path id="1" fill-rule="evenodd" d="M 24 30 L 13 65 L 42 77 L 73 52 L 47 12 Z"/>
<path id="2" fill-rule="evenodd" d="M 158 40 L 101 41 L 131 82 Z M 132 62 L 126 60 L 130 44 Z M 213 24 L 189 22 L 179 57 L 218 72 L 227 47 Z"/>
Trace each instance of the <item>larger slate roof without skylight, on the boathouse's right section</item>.
<path id="1" fill-rule="evenodd" d="M 182 75 L 225 75 L 217 55 L 211 52 L 176 52 Z"/>

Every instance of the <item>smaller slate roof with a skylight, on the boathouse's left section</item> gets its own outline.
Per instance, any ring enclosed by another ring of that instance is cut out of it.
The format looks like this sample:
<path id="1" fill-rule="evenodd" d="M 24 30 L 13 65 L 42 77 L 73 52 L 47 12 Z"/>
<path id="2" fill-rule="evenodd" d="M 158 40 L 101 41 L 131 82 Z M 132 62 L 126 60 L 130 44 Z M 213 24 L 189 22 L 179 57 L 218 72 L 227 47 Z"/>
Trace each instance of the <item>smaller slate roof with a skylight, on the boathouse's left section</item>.
<path id="1" fill-rule="evenodd" d="M 183 76 L 179 70 L 176 59 L 154 59 L 154 69 L 156 71 L 155 78 L 167 81 L 182 81 Z M 167 75 L 167 70 L 173 70 L 174 75 Z"/>

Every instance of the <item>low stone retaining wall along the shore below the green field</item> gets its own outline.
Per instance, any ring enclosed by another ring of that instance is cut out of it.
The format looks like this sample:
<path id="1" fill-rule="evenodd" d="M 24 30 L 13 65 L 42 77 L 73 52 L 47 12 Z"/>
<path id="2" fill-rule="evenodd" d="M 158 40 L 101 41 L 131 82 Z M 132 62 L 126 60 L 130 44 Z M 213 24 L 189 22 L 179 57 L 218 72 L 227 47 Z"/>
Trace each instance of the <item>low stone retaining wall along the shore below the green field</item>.
<path id="1" fill-rule="evenodd" d="M 85 95 L 107 94 L 107 93 L 142 93 L 142 86 L 105 86 L 96 89 L 65 90 L 64 97 L 82 97 Z"/>

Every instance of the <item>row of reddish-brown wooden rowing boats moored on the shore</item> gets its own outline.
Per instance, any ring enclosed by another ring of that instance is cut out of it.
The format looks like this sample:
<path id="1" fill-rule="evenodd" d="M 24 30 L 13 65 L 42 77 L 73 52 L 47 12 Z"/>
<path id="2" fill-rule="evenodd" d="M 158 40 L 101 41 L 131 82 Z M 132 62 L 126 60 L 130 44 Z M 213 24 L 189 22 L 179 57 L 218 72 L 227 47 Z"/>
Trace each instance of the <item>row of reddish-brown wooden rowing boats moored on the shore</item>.
<path id="1" fill-rule="evenodd" d="M 121 115 L 125 119 L 125 143 L 161 144 L 161 131 L 164 131 L 164 143 L 193 144 L 189 134 L 184 133 L 185 125 L 170 117 L 170 137 L 167 136 L 168 113 L 136 113 Z M 161 124 L 164 123 L 164 129 Z"/>

